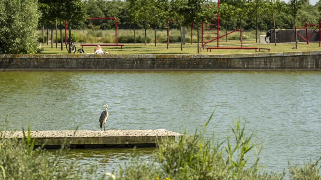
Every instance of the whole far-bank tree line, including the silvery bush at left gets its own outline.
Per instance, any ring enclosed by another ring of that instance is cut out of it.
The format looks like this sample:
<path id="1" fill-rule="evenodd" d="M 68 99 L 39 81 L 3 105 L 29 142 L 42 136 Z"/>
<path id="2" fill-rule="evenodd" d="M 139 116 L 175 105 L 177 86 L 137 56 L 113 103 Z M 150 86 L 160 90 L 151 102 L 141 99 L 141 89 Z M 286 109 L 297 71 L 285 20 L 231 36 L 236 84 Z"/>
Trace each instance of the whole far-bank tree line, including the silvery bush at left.
<path id="1" fill-rule="evenodd" d="M 89 17 L 116 17 L 119 29 L 134 29 L 134 32 L 137 28 L 145 29 L 145 32 L 154 29 L 155 39 L 157 29 L 181 30 L 193 22 L 199 42 L 201 22 L 206 22 L 217 12 L 220 12 L 220 29 L 258 31 L 302 27 L 305 21 L 317 24 L 321 18 L 320 4 L 311 5 L 308 0 L 290 0 L 289 3 L 280 0 L 221 0 L 219 8 L 214 8 L 217 3 L 209 0 L 0 0 L 0 52 L 34 53 L 39 49 L 39 44 L 32 40 L 38 39 L 37 26 L 47 29 L 47 38 L 49 29 L 51 36 L 53 29 L 60 28 L 62 32 L 64 21 L 68 22 L 68 36 L 72 28 L 110 29 L 115 26 L 113 20 L 89 20 Z M 167 27 L 169 19 L 177 23 Z"/>

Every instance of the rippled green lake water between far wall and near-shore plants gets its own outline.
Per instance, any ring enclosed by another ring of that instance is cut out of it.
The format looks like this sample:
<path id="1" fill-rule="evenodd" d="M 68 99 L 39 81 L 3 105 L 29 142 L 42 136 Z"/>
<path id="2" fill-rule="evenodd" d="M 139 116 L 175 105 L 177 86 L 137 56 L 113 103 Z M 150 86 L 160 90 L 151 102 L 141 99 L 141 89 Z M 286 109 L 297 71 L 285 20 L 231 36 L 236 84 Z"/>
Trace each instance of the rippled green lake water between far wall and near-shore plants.
<path id="1" fill-rule="evenodd" d="M 230 134 L 232 116 L 247 122 L 263 143 L 265 170 L 321 156 L 320 72 L 0 72 L 0 122 L 9 130 L 99 130 L 108 104 L 107 129 L 168 129 L 208 136 Z M 146 159 L 152 148 L 138 148 Z M 133 149 L 73 149 L 81 165 L 111 172 Z M 252 155 L 252 154 L 250 154 Z"/>

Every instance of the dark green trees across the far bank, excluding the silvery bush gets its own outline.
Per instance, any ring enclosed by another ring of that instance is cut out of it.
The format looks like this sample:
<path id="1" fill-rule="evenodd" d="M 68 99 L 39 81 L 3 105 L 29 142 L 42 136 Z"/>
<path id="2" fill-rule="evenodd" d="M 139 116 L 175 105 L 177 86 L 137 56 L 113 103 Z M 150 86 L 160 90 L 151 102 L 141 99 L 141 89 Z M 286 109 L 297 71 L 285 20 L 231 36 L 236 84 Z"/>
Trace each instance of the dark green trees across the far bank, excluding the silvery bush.
<path id="1" fill-rule="evenodd" d="M 308 0 L 290 0 L 289 3 L 280 0 L 221 0 L 219 9 L 214 9 L 206 8 L 217 7 L 217 3 L 208 0 L 85 0 L 71 3 L 73 6 L 67 10 L 68 2 L 61 0 L 39 0 L 39 3 L 42 12 L 39 25 L 42 29 L 47 25 L 47 43 L 48 27 L 51 27 L 52 31 L 56 23 L 57 28 L 57 20 L 60 21 L 60 30 L 61 22 L 64 20 L 69 20 L 69 29 L 72 27 L 109 29 L 114 27 L 113 21 L 87 20 L 86 17 L 116 17 L 119 20 L 119 28 L 134 29 L 134 43 L 136 28 L 145 30 L 145 44 L 146 30 L 154 29 L 155 46 L 156 30 L 169 28 L 167 24 L 169 18 L 178 21 L 173 28 L 182 31 L 182 26 L 189 26 L 193 22 L 194 27 L 199 30 L 201 22 L 206 21 L 207 16 L 220 12 L 221 27 L 223 25 L 226 31 L 235 28 L 256 29 L 257 42 L 259 29 L 280 27 L 296 29 L 297 24 L 303 25 L 305 21 L 317 23 L 321 6 L 321 3 L 312 6 Z"/>

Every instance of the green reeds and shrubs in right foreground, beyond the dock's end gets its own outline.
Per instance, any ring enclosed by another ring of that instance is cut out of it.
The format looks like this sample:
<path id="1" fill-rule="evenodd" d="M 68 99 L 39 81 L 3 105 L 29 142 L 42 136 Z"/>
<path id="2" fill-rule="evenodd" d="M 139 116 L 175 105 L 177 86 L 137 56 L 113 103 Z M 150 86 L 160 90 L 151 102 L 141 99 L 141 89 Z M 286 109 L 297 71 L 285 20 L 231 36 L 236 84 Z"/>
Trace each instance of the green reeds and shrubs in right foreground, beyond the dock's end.
<path id="1" fill-rule="evenodd" d="M 212 119 L 206 122 L 204 129 Z M 254 134 L 246 134 L 245 123 L 241 126 L 240 119 L 234 121 L 233 137 L 223 141 L 205 138 L 204 131 L 195 131 L 194 135 L 183 134 L 175 143 L 166 139 L 159 143 L 150 162 L 132 158 L 125 167 L 119 166 L 117 174 L 109 179 L 116 180 L 281 180 L 283 173 L 263 171 L 259 154 L 263 144 L 253 144 Z M 254 153 L 251 156 L 249 153 Z M 250 162 L 250 163 L 249 163 Z M 304 167 L 289 165 L 290 179 L 321 179 L 318 161 L 305 164 Z"/>

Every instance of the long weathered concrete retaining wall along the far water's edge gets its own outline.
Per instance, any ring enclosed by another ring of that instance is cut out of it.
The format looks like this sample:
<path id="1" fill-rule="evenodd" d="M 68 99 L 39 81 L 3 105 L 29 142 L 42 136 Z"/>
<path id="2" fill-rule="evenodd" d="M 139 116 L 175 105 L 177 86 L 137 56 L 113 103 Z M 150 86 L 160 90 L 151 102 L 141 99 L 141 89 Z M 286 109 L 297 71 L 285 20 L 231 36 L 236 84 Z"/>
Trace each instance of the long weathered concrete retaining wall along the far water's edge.
<path id="1" fill-rule="evenodd" d="M 1 70 L 320 70 L 321 51 L 229 55 L 0 54 Z"/>

